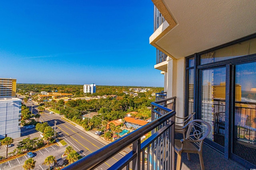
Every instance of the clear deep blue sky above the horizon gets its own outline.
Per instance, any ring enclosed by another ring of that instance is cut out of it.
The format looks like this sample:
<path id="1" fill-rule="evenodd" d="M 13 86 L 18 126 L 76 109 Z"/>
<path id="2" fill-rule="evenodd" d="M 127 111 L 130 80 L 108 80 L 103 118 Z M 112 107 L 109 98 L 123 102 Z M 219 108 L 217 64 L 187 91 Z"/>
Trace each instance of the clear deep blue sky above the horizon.
<path id="1" fill-rule="evenodd" d="M 18 83 L 164 86 L 151 0 L 1 0 L 0 77 Z"/>

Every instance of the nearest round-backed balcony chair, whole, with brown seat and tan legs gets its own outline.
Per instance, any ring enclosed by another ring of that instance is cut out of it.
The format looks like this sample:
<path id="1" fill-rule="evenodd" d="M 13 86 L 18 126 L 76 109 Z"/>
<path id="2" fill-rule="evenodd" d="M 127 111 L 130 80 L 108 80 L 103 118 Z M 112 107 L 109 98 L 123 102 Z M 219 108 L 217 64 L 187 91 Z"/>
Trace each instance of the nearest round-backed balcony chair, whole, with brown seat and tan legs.
<path id="1" fill-rule="evenodd" d="M 204 161 L 202 156 L 202 147 L 204 139 L 209 135 L 211 131 L 211 125 L 206 121 L 195 119 L 182 129 L 187 129 L 186 137 L 184 139 L 175 139 L 175 152 L 177 156 L 176 170 L 180 170 L 181 154 L 186 152 L 188 160 L 190 160 L 189 153 L 197 153 L 199 155 L 201 170 L 204 170 Z"/>

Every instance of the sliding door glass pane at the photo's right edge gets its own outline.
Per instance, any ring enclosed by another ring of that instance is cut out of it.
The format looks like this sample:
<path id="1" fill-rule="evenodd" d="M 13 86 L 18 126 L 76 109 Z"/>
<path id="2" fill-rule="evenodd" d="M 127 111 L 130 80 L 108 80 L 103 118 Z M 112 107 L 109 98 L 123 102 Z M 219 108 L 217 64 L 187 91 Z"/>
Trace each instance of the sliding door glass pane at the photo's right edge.
<path id="1" fill-rule="evenodd" d="M 256 165 L 256 63 L 237 64 L 232 153 Z"/>

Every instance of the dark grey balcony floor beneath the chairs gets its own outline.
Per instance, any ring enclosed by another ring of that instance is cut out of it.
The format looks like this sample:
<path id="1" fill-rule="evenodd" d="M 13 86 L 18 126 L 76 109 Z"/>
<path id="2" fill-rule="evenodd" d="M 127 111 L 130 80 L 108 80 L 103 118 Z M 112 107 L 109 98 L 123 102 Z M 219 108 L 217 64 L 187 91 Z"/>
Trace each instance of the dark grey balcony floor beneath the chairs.
<path id="1" fill-rule="evenodd" d="M 175 133 L 176 139 L 182 139 L 182 134 Z M 176 169 L 176 158 L 175 153 L 175 169 Z M 203 159 L 205 170 L 246 170 L 240 164 L 233 160 L 227 160 L 223 154 L 220 154 L 216 150 L 208 147 L 206 144 L 203 145 Z M 181 159 L 181 170 L 200 170 L 200 162 L 198 154 L 190 154 L 190 160 L 187 159 L 187 154 L 182 153 Z"/>

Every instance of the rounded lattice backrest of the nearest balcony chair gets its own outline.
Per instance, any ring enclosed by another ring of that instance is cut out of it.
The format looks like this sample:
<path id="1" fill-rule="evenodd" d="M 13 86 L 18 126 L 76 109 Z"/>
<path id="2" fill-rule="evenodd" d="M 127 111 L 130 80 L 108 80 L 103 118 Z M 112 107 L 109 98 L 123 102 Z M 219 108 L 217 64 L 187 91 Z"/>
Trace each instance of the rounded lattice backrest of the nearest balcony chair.
<path id="1" fill-rule="evenodd" d="M 206 121 L 195 119 L 188 122 L 187 126 L 188 130 L 185 139 L 195 141 L 196 146 L 200 150 L 204 139 L 211 131 L 211 125 Z"/>

